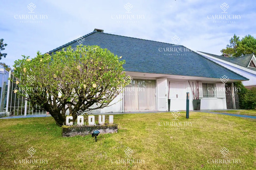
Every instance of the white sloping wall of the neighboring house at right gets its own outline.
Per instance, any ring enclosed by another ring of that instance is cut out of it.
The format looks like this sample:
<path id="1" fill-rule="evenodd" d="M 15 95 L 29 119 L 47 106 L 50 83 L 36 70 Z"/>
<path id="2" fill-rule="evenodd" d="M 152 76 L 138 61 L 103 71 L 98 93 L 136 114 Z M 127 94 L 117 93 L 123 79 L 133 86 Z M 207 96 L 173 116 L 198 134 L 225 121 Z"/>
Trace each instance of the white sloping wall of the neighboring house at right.
<path id="1" fill-rule="evenodd" d="M 207 56 L 205 56 L 205 57 L 207 57 Z M 250 79 L 248 81 L 243 81 L 242 82 L 244 86 L 256 85 L 256 71 L 254 71 L 255 74 L 252 74 L 251 72 L 243 70 L 242 68 L 244 68 L 244 67 L 241 67 L 241 66 L 236 67 L 236 66 L 232 66 L 232 65 L 223 63 L 221 61 L 218 61 L 218 60 L 215 60 L 215 59 L 212 59 L 212 58 L 209 58 L 209 57 L 207 57 L 207 58 L 216 62 L 216 63 L 218 63 L 218 64 L 220 64 L 220 65 L 222 65 L 222 66 L 224 66 L 224 67 L 226 67 L 226 68 L 228 68 L 228 69 L 230 69 L 230 70 L 232 70 L 232 71 L 234 71 L 234 72 L 237 72 L 237 74 L 242 75 L 242 76 L 246 77 L 247 79 Z M 241 67 L 241 68 L 239 68 L 239 67 Z M 253 70 L 251 70 L 251 71 L 253 72 Z"/>

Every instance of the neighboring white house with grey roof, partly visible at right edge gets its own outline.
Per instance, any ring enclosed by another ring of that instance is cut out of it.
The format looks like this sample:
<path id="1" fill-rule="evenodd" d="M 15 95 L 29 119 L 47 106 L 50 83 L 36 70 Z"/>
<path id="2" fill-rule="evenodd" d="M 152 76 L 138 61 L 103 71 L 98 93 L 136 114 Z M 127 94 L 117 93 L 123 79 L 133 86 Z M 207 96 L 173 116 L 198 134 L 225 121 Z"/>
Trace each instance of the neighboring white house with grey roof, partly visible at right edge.
<path id="1" fill-rule="evenodd" d="M 246 88 L 250 89 L 252 87 L 256 87 L 256 58 L 254 54 L 249 54 L 241 57 L 224 57 L 204 52 L 198 53 L 250 79 L 249 81 L 243 82 Z"/>

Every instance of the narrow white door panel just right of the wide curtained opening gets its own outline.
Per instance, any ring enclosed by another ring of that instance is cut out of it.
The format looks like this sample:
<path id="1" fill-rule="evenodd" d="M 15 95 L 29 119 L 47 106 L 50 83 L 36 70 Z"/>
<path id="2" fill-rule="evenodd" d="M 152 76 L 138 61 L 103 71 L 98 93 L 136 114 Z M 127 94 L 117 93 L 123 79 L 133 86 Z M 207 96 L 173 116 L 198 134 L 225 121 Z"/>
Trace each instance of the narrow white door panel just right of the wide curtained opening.
<path id="1" fill-rule="evenodd" d="M 167 111 L 167 79 L 157 79 L 157 109 Z"/>

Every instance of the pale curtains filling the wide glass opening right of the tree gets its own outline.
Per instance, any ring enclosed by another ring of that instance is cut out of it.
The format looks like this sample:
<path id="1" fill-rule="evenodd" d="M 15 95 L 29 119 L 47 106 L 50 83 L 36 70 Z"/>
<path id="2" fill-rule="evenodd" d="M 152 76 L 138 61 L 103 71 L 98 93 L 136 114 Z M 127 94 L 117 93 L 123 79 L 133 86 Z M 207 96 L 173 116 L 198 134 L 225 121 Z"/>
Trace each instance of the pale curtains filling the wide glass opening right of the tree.
<path id="1" fill-rule="evenodd" d="M 156 81 L 134 79 L 124 89 L 124 110 L 156 110 Z"/>

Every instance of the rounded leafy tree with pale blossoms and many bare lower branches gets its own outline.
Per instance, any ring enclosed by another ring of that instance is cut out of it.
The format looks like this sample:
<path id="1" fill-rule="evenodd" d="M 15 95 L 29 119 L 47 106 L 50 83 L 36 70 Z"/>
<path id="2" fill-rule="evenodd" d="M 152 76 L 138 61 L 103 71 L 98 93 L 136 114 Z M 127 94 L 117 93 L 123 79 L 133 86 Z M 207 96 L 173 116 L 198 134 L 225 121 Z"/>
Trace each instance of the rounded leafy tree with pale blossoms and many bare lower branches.
<path id="1" fill-rule="evenodd" d="M 123 72 L 125 61 L 99 46 L 70 46 L 51 55 L 37 52 L 32 60 L 23 57 L 14 64 L 14 76 L 20 77 L 16 84 L 26 91 L 26 100 L 48 111 L 58 126 L 67 111 L 75 121 L 78 111 L 109 106 L 130 83 Z"/>

